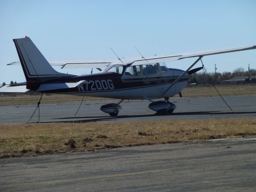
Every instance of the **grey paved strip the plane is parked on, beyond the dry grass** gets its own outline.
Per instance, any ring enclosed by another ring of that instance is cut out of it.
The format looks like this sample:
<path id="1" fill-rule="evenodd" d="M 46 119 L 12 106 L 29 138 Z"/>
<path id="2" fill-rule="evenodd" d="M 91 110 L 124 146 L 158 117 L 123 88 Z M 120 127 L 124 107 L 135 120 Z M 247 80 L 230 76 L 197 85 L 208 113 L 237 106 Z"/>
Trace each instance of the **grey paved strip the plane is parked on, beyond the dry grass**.
<path id="1" fill-rule="evenodd" d="M 82 97 L 81 97 L 82 98 Z M 100 111 L 100 106 L 111 102 L 83 102 L 74 118 L 80 103 L 44 104 L 40 105 L 40 122 L 100 122 L 100 121 L 158 121 L 177 119 L 210 119 L 210 118 L 255 118 L 256 96 L 226 96 L 226 102 L 235 111 L 230 113 L 228 106 L 220 97 L 183 97 L 171 98 L 177 108 L 171 115 L 154 115 L 148 108 L 147 100 L 124 101 L 117 117 L 110 117 Z M 86 98 L 85 100 L 86 101 Z M 0 106 L 0 123 L 27 122 L 36 106 Z M 31 122 L 38 121 L 36 111 Z"/>

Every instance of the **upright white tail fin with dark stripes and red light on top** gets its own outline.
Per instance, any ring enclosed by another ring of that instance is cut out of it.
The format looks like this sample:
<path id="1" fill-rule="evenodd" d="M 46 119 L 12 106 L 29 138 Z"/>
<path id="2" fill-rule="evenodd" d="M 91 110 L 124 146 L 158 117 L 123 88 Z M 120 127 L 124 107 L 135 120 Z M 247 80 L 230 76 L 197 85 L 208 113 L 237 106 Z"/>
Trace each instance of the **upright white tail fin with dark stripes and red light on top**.
<path id="1" fill-rule="evenodd" d="M 13 41 L 26 77 L 27 89 L 36 91 L 44 82 L 73 76 L 54 70 L 29 37 Z"/>

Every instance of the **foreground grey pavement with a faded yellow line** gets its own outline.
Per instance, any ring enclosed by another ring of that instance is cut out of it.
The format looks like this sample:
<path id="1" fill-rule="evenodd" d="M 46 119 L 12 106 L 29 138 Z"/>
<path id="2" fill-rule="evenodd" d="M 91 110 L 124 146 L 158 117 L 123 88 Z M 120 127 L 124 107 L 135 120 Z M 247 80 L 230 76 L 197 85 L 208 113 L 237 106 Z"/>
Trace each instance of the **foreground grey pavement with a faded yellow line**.
<path id="1" fill-rule="evenodd" d="M 255 191 L 256 138 L 0 159 L 0 191 Z"/>

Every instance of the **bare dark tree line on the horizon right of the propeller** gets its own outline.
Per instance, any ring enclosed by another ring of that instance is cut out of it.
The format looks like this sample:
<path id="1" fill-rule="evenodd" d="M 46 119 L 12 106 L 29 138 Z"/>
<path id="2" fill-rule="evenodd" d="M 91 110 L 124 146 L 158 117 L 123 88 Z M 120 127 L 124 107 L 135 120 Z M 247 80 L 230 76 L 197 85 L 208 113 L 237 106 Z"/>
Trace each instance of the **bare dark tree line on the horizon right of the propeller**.
<path id="1" fill-rule="evenodd" d="M 236 68 L 233 72 L 223 72 L 223 73 L 218 73 L 216 74 L 214 72 L 208 72 L 212 82 L 220 82 L 220 81 L 225 81 L 229 80 L 231 78 L 237 77 L 237 76 L 247 76 L 248 77 L 248 71 L 245 71 L 244 68 L 239 67 Z M 250 69 L 250 76 L 256 75 L 256 69 Z M 188 78 L 188 83 L 197 83 L 197 84 L 211 84 L 211 81 L 206 74 L 205 71 L 202 72 L 197 72 L 189 76 Z"/>

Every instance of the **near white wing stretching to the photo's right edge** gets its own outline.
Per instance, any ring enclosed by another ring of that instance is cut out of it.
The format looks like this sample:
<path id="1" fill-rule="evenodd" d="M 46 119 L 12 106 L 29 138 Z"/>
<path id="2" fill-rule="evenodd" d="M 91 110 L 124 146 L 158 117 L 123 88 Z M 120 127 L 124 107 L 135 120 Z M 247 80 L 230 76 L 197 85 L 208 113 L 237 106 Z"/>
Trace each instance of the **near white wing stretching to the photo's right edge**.
<path id="1" fill-rule="evenodd" d="M 199 56 L 202 57 L 202 56 L 207 56 L 207 55 L 222 54 L 222 53 L 244 51 L 244 50 L 251 50 L 251 49 L 256 49 L 256 45 L 228 48 L 228 49 L 218 49 L 218 50 L 196 52 L 196 53 L 189 53 L 189 54 L 167 54 L 167 55 L 162 55 L 162 56 L 156 55 L 156 56 L 146 57 L 145 59 L 143 58 L 140 60 L 135 60 L 132 63 L 132 66 L 142 65 L 142 64 L 159 63 L 159 62 L 172 62 L 172 61 L 177 61 L 180 59 L 190 58 L 190 57 L 199 57 Z"/>

